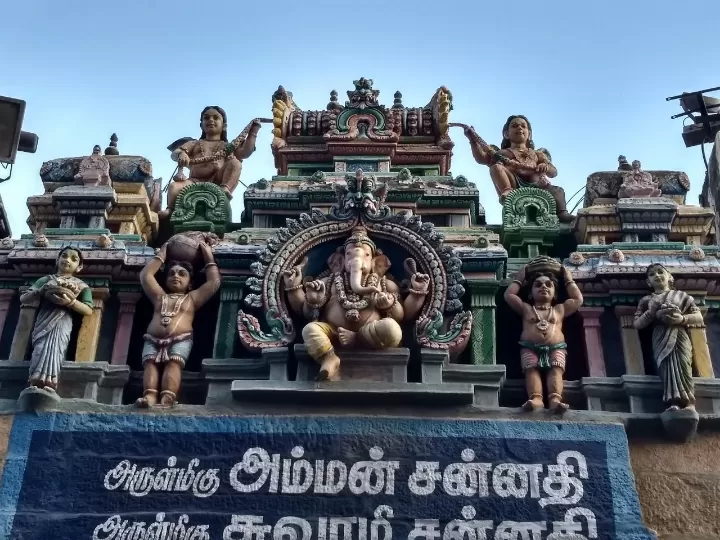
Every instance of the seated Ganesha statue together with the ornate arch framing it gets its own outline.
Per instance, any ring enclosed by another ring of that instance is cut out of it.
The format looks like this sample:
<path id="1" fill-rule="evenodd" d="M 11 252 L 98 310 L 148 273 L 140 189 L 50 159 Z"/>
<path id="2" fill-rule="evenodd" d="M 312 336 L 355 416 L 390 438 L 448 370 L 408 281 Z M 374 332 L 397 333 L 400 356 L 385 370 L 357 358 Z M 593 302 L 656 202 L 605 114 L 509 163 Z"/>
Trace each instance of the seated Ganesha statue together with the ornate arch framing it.
<path id="1" fill-rule="evenodd" d="M 321 380 L 338 378 L 343 348 L 387 349 L 410 338 L 422 348 L 459 354 L 472 326 L 471 313 L 462 311 L 462 261 L 432 223 L 393 215 L 385 185 L 377 187 L 361 170 L 346 180 L 328 214 L 313 209 L 288 219 L 251 265 L 255 277 L 246 281 L 245 304 L 260 310 L 266 324 L 240 310 L 243 346 L 287 347 L 298 337 L 295 320 L 309 321 L 302 337 Z M 336 249 L 328 258 L 330 246 Z M 390 251 L 404 260 L 402 282 L 388 272 Z M 401 325 L 411 321 L 413 335 L 403 336 Z"/>

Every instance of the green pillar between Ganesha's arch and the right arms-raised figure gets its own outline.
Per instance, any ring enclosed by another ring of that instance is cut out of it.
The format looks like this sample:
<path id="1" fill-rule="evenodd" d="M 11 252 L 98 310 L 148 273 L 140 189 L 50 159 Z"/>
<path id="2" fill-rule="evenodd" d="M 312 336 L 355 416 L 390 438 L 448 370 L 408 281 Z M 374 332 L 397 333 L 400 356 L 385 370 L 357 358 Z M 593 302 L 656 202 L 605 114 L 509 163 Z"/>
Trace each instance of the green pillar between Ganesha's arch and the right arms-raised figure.
<path id="1" fill-rule="evenodd" d="M 495 364 L 495 295 L 500 283 L 496 280 L 468 281 L 470 311 L 470 361 L 473 364 Z"/>

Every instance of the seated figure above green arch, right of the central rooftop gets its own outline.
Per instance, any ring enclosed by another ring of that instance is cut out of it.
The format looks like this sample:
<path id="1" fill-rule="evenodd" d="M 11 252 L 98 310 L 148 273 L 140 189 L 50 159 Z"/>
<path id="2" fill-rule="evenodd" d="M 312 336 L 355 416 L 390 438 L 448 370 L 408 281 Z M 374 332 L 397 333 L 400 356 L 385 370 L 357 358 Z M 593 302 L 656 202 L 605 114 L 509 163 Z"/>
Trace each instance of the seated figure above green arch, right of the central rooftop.
<path id="1" fill-rule="evenodd" d="M 541 148 L 535 150 L 530 121 L 522 115 L 510 116 L 502 130 L 500 148 L 488 145 L 470 126 L 462 125 L 470 140 L 473 157 L 481 165 L 490 167 L 490 178 L 495 185 L 500 203 L 512 190 L 532 186 L 545 189 L 555 199 L 558 219 L 569 223 L 573 217 L 567 211 L 565 191 L 554 186 L 548 178 L 557 176 L 557 169 L 550 161 L 550 153 Z"/>

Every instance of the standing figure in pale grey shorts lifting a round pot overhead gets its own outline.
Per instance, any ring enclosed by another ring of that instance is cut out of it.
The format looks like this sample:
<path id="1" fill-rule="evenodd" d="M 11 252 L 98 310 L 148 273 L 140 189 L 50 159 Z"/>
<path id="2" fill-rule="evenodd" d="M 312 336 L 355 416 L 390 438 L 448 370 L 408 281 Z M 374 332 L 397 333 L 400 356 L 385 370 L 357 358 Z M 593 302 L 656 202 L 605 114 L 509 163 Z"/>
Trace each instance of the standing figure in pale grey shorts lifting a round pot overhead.
<path id="1" fill-rule="evenodd" d="M 191 290 L 193 267 L 184 261 L 167 263 L 167 292 L 158 283 L 155 274 L 165 264 L 167 244 L 140 272 L 140 283 L 154 311 L 144 336 L 143 397 L 135 402 L 138 407 L 155 405 L 158 391 L 160 405 L 169 407 L 175 404 L 182 370 L 192 350 L 195 314 L 220 288 L 220 272 L 212 249 L 204 242 L 199 244 L 198 249 L 205 260 L 207 281 L 197 290 Z"/>

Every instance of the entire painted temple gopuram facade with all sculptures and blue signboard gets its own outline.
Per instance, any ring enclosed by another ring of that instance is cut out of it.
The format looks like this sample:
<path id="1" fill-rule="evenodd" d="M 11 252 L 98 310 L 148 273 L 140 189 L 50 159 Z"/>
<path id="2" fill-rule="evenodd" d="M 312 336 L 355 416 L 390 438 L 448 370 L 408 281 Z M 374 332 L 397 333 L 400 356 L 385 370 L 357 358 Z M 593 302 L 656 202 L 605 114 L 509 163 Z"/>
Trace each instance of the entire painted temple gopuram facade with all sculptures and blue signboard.
<path id="1" fill-rule="evenodd" d="M 353 86 L 0 212 L 0 538 L 720 538 L 714 203 L 608 156 L 573 215 L 524 116 Z"/>

